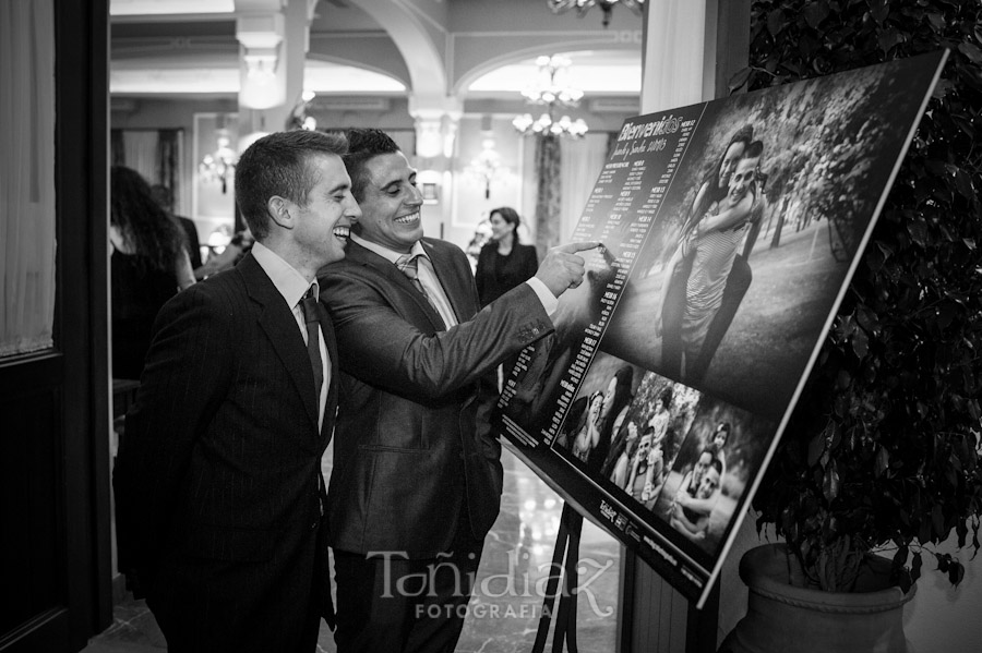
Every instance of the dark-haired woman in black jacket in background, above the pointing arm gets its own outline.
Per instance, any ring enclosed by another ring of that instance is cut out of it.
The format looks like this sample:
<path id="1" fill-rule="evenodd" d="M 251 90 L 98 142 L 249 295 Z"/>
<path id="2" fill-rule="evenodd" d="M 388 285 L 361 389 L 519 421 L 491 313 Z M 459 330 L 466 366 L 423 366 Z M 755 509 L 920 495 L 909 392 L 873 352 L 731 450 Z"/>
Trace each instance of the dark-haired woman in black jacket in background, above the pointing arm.
<path id="1" fill-rule="evenodd" d="M 536 249 L 518 242 L 518 211 L 510 206 L 495 208 L 490 221 L 491 242 L 481 247 L 475 273 L 481 306 L 530 279 L 539 267 Z"/>

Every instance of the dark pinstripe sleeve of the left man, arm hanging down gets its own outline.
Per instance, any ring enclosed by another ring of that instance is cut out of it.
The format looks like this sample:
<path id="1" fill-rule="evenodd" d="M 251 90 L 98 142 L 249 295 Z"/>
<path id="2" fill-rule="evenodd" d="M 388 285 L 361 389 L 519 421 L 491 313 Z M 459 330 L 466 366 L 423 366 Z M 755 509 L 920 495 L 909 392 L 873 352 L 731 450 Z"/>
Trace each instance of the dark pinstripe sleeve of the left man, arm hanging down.
<path id="1" fill-rule="evenodd" d="M 159 565 L 195 438 L 229 383 L 232 310 L 203 288 L 160 310 L 117 459 L 120 569 L 144 582 Z"/>

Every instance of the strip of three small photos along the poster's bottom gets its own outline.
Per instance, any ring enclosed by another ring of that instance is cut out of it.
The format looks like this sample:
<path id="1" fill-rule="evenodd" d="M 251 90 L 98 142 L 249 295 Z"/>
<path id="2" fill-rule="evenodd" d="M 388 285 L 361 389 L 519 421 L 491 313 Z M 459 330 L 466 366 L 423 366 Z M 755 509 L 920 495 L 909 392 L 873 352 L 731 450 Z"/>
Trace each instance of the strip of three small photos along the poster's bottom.
<path id="1" fill-rule="evenodd" d="M 553 450 L 655 531 L 712 555 L 776 424 L 598 354 Z"/>

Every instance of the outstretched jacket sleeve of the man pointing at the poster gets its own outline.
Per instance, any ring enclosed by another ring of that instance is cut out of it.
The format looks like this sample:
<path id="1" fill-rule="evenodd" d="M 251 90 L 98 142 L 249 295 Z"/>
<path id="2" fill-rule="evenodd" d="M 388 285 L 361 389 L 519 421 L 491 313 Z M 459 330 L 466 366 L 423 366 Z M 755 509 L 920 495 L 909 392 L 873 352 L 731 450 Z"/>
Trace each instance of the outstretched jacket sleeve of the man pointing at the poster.
<path id="1" fill-rule="evenodd" d="M 553 330 L 527 283 L 474 318 L 433 334 L 400 314 L 394 289 L 384 278 L 345 268 L 321 277 L 321 288 L 334 321 L 342 370 L 414 400 L 439 399 L 472 384 Z"/>

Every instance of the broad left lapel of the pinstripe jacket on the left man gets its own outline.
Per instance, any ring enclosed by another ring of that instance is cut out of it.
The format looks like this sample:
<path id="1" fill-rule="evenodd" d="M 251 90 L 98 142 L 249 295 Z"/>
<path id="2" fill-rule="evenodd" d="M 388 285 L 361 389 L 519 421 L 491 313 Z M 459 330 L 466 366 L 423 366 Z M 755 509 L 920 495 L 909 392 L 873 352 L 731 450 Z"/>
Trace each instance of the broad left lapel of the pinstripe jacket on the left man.
<path id="1" fill-rule="evenodd" d="M 294 380 L 294 387 L 303 400 L 303 407 L 316 431 L 318 398 L 314 395 L 313 370 L 310 367 L 303 336 L 300 335 L 294 313 L 255 258 L 248 255 L 236 269 L 246 281 L 249 297 L 260 304 L 260 327 L 266 332 L 273 349 Z"/>

